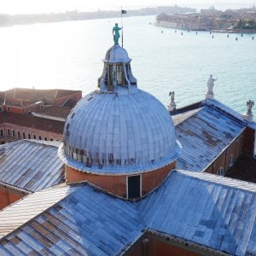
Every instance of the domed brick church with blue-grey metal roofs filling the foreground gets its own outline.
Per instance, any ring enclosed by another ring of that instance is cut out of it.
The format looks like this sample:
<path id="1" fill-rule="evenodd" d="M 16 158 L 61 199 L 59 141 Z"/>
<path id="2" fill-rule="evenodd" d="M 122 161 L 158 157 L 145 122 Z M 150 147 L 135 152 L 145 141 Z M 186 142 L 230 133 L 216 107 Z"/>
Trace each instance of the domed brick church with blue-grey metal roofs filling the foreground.
<path id="1" fill-rule="evenodd" d="M 253 102 L 236 113 L 212 82 L 205 100 L 171 116 L 137 88 L 119 44 L 103 61 L 59 148 L 0 146 L 0 196 L 26 194 L 0 212 L 0 254 L 256 255 L 256 184 L 224 177 L 253 157 Z"/>

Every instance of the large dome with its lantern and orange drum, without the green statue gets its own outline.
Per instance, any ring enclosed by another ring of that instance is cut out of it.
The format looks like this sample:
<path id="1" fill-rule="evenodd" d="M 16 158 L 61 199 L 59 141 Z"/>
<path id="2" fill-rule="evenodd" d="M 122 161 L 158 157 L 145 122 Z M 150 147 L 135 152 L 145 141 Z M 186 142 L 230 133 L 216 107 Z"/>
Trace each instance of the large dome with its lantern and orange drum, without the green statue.
<path id="1" fill-rule="evenodd" d="M 67 183 L 88 181 L 139 199 L 175 168 L 181 146 L 164 105 L 137 89 L 126 50 L 113 45 L 103 62 L 99 90 L 84 96 L 67 117 L 59 155 Z"/>

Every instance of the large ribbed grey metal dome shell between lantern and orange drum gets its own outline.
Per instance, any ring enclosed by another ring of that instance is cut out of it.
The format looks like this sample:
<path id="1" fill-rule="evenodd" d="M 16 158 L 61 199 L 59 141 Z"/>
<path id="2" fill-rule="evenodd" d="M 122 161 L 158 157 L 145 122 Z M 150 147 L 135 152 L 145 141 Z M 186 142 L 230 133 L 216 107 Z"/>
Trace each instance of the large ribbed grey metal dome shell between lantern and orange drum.
<path id="1" fill-rule="evenodd" d="M 67 117 L 64 142 L 61 159 L 67 165 L 102 174 L 152 171 L 180 150 L 165 106 L 137 89 L 84 96 Z"/>

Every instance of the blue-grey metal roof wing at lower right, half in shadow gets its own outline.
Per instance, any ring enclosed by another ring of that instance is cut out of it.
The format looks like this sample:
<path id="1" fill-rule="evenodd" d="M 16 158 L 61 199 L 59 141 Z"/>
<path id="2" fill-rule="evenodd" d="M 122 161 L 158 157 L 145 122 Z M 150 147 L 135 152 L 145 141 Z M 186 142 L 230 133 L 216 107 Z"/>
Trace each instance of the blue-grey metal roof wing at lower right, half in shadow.
<path id="1" fill-rule="evenodd" d="M 255 192 L 253 183 L 172 172 L 159 189 L 138 203 L 138 209 L 151 230 L 225 253 L 255 255 Z"/>

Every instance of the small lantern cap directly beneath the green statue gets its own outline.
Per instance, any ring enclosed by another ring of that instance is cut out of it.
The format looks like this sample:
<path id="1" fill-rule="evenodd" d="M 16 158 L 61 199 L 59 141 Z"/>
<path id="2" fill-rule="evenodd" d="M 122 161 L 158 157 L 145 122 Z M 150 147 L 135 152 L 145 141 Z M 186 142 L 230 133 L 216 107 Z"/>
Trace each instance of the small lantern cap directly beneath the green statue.
<path id="1" fill-rule="evenodd" d="M 119 44 L 114 44 L 113 47 L 108 49 L 103 61 L 108 63 L 128 63 L 131 59 L 124 48 L 120 47 Z"/>

